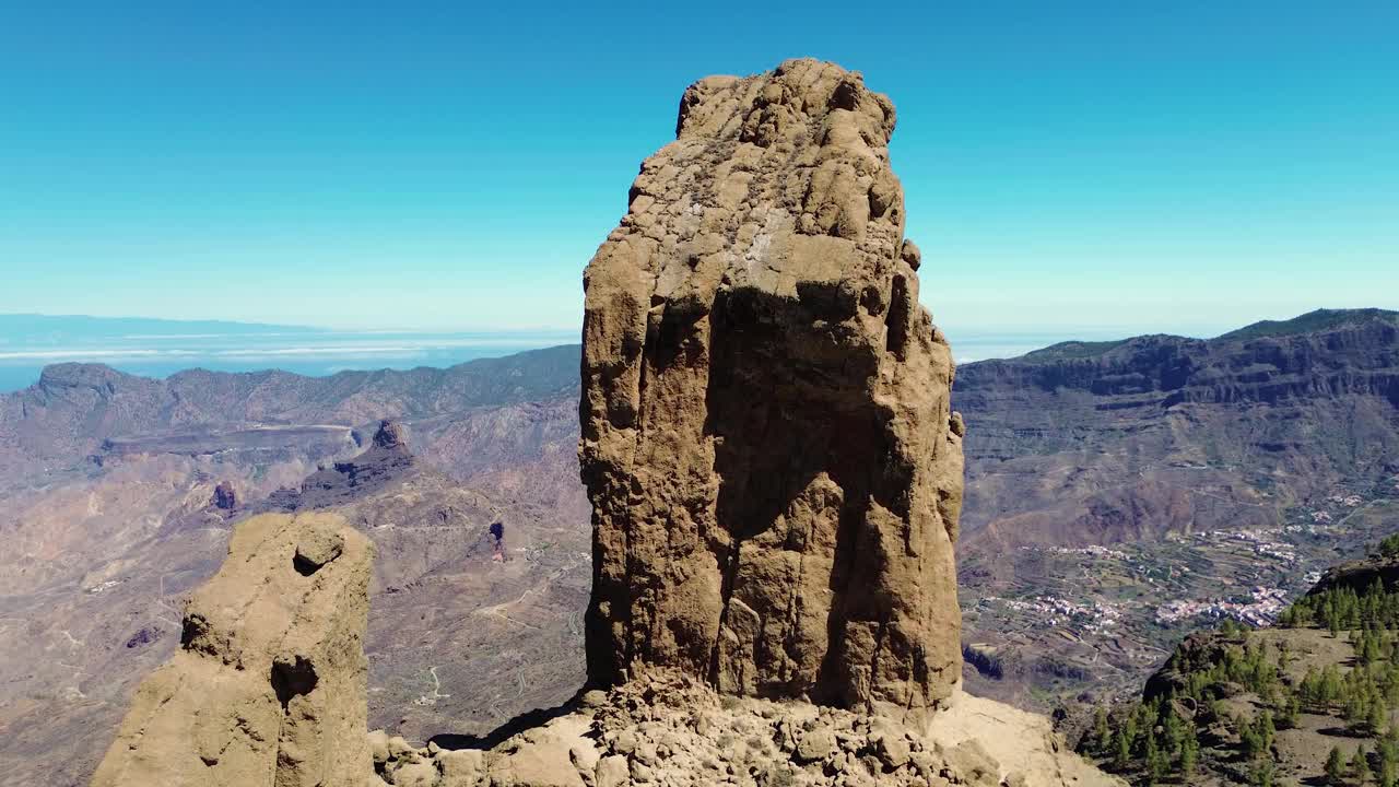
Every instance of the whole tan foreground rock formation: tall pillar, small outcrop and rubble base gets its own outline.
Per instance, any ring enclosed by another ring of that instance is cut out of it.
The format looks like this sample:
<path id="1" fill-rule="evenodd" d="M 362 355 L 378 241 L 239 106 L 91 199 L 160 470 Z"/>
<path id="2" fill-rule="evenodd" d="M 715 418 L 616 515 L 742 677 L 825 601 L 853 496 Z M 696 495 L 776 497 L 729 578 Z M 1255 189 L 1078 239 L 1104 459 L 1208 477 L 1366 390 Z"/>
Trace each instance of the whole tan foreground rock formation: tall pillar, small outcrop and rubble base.
<path id="1" fill-rule="evenodd" d="M 585 279 L 593 685 L 484 738 L 365 732 L 367 539 L 255 517 L 98 787 L 1114 783 L 1048 720 L 956 692 L 963 429 L 902 239 L 893 105 L 790 60 L 697 83 L 679 126 Z M 410 459 L 385 423 L 287 500 Z"/>

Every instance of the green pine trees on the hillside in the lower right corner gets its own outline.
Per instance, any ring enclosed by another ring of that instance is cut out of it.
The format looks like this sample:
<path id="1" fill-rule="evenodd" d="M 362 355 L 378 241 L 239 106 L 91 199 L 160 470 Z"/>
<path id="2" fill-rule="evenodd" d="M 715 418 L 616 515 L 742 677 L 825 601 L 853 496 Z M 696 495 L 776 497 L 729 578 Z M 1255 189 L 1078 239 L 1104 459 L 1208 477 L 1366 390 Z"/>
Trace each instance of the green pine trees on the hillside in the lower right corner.
<path id="1" fill-rule="evenodd" d="M 1379 549 L 1399 550 L 1399 538 Z M 1399 592 L 1379 581 L 1364 592 L 1332 588 L 1293 604 L 1280 627 L 1329 630 L 1353 658 L 1298 675 L 1286 639 L 1226 623 L 1177 648 L 1165 695 L 1100 707 L 1080 749 L 1136 784 L 1196 783 L 1202 767 L 1224 781 L 1290 784 L 1279 770 L 1279 731 L 1309 714 L 1307 730 L 1351 741 L 1330 748 L 1321 783 L 1399 787 Z"/>

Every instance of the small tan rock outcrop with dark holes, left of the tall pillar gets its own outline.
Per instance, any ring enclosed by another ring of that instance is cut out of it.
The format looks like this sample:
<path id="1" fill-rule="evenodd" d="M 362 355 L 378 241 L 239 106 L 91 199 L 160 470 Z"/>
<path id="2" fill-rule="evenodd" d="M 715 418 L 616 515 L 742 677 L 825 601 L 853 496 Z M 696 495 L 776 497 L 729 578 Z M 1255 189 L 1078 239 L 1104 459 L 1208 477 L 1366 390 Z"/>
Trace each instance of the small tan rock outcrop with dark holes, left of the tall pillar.
<path id="1" fill-rule="evenodd" d="M 190 599 L 180 650 L 137 689 L 94 787 L 369 784 L 372 553 L 330 514 L 238 525 L 224 566 Z"/>

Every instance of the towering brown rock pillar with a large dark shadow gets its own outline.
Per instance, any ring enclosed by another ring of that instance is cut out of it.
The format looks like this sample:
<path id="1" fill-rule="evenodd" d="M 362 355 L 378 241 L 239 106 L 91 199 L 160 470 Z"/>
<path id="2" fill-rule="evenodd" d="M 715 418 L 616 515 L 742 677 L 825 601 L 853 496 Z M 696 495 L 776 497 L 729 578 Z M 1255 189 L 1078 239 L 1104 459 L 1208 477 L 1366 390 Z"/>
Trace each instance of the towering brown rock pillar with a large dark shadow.
<path id="1" fill-rule="evenodd" d="M 585 274 L 589 678 L 921 716 L 957 682 L 953 361 L 918 302 L 894 106 L 709 77 Z"/>

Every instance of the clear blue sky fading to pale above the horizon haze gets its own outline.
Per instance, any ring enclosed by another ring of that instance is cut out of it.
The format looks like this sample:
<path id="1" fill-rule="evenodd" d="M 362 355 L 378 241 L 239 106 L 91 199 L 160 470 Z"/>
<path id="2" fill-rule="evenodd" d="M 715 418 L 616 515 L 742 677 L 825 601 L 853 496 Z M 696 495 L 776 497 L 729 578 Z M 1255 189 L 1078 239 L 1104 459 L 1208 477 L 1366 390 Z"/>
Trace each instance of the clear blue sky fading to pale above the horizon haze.
<path id="1" fill-rule="evenodd" d="M 0 312 L 571 328 L 684 87 L 790 56 L 898 105 L 954 337 L 1399 307 L 1393 1 L 28 6 Z"/>

